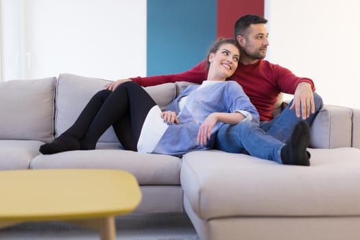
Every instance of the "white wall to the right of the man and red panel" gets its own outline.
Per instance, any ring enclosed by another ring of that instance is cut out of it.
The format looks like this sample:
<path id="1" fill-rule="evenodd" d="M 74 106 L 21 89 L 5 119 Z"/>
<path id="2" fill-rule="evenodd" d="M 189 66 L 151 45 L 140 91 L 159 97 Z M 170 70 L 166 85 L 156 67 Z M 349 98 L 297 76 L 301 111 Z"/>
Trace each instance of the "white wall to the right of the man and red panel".
<path id="1" fill-rule="evenodd" d="M 356 0 L 265 0 L 266 59 L 311 77 L 324 103 L 360 108 L 359 12 Z"/>

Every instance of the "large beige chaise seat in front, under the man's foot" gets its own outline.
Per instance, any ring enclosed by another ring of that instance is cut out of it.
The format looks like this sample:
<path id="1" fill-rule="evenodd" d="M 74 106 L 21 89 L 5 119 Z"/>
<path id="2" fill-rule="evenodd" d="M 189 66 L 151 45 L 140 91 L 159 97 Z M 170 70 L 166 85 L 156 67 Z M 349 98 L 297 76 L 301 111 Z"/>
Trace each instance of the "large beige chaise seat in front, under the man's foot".
<path id="1" fill-rule="evenodd" d="M 215 150 L 184 155 L 184 208 L 200 238 L 358 239 L 360 149 L 309 152 L 311 167 Z"/>

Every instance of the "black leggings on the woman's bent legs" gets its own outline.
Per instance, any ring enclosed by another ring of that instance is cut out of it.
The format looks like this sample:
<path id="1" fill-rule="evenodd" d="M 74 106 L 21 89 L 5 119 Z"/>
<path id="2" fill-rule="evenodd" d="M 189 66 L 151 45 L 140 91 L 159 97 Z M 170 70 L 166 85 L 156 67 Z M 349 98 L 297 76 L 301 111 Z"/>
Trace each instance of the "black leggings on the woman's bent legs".
<path id="1" fill-rule="evenodd" d="M 95 149 L 100 136 L 112 125 L 121 145 L 136 151 L 145 117 L 155 105 L 141 86 L 125 82 L 115 91 L 97 92 L 64 134 L 80 139 L 82 149 Z"/>

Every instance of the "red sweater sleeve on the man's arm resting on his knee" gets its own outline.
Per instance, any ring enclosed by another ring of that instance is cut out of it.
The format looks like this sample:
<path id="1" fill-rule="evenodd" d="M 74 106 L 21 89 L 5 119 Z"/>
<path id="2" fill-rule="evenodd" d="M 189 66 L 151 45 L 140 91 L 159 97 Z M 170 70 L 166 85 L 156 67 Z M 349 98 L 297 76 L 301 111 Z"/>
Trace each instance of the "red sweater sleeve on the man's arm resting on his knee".
<path id="1" fill-rule="evenodd" d="M 277 80 L 280 91 L 283 93 L 294 94 L 296 87 L 300 82 L 308 82 L 311 85 L 311 89 L 315 91 L 315 84 L 313 80 L 308 77 L 297 77 L 289 69 L 274 65 L 274 79 Z"/>

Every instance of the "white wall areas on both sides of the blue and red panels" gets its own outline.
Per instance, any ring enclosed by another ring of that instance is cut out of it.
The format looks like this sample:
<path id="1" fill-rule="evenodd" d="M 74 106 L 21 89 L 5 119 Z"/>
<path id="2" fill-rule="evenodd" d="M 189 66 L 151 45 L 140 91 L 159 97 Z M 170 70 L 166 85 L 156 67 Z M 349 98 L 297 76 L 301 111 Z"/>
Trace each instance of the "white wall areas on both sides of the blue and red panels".
<path id="1" fill-rule="evenodd" d="M 2 79 L 146 75 L 146 0 L 0 3 Z M 359 12 L 356 0 L 265 0 L 267 60 L 311 77 L 326 104 L 360 108 Z"/>

